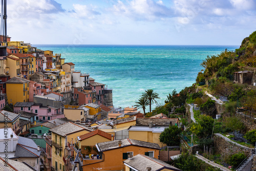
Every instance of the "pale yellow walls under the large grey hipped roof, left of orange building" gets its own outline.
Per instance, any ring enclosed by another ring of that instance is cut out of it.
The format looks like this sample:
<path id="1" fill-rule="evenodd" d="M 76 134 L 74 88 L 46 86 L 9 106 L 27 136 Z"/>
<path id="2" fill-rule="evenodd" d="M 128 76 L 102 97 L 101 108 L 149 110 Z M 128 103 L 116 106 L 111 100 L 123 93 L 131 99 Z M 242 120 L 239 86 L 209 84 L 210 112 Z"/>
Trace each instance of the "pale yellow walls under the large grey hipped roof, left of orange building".
<path id="1" fill-rule="evenodd" d="M 64 150 L 67 145 L 66 139 L 67 139 L 67 142 L 71 143 L 72 138 L 73 138 L 73 143 L 74 143 L 77 136 L 87 134 L 87 133 L 89 133 L 89 131 L 81 130 L 81 131 L 78 131 L 75 133 L 68 134 L 65 137 L 63 137 L 63 136 L 60 136 L 60 135 L 52 132 L 52 142 L 53 143 L 55 142 L 57 144 L 57 145 L 52 145 L 52 166 L 53 166 L 53 168 L 56 168 L 55 164 L 57 164 L 57 168 L 58 168 L 57 170 L 59 170 L 59 171 L 62 171 L 63 167 L 65 167 L 65 163 L 63 161 L 63 156 L 65 155 Z M 59 146 L 59 147 L 56 147 L 56 146 Z M 61 167 L 60 167 L 60 165 L 61 165 Z"/>

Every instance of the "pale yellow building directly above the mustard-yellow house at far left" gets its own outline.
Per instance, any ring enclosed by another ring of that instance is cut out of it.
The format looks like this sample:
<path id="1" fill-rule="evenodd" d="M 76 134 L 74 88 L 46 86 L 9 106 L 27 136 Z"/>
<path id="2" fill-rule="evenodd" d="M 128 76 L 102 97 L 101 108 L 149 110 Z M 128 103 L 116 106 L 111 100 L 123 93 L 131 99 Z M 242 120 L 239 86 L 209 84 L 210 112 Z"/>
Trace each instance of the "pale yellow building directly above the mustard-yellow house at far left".
<path id="1" fill-rule="evenodd" d="M 18 57 L 7 56 L 6 74 L 10 77 L 20 75 L 20 59 Z"/>

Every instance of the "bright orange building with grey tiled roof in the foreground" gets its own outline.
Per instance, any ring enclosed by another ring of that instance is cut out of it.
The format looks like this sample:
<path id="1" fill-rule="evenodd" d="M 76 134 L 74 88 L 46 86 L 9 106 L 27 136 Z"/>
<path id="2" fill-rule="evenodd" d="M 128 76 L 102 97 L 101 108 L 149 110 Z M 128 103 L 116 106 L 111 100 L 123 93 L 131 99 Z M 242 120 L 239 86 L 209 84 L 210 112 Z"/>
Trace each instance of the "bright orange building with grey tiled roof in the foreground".
<path id="1" fill-rule="evenodd" d="M 138 141 L 133 139 L 122 139 L 96 144 L 99 152 L 98 159 L 83 159 L 84 171 L 101 168 L 102 170 L 124 170 L 123 161 L 138 154 L 158 158 L 160 146 L 156 143 Z M 76 160 L 81 158 L 77 157 Z M 75 161 L 76 162 L 76 161 Z M 80 161 L 77 161 L 81 163 Z"/>

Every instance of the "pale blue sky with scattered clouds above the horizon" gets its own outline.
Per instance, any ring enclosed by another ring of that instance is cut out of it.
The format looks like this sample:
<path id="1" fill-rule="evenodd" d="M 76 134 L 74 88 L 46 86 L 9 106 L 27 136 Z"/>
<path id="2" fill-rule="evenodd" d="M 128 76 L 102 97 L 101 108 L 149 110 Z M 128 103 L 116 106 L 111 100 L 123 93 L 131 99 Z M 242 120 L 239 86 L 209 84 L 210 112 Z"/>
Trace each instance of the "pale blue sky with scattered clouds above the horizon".
<path id="1" fill-rule="evenodd" d="M 256 0 L 8 0 L 7 16 L 32 45 L 241 45 Z"/>

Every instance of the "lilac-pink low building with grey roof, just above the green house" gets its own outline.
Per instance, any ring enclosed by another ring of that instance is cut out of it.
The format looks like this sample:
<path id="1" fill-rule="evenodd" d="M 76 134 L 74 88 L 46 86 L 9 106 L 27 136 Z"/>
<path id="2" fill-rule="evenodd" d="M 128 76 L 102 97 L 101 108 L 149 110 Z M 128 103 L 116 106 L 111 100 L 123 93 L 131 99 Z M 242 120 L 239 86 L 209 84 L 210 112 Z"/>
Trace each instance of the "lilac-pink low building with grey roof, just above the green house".
<path id="1" fill-rule="evenodd" d="M 63 114 L 60 114 L 60 109 L 54 108 L 53 106 L 43 106 L 40 103 L 34 102 L 16 102 L 13 109 L 16 113 L 24 111 L 37 114 L 35 120 L 48 121 L 65 117 Z"/>

